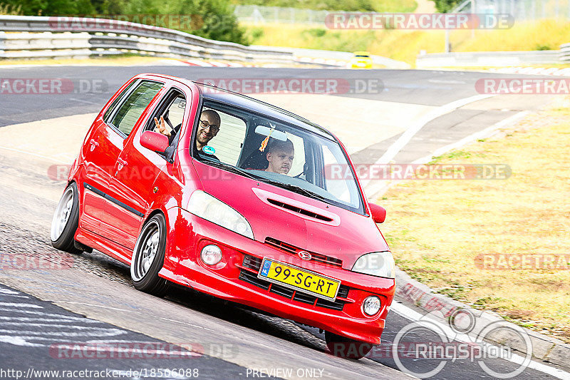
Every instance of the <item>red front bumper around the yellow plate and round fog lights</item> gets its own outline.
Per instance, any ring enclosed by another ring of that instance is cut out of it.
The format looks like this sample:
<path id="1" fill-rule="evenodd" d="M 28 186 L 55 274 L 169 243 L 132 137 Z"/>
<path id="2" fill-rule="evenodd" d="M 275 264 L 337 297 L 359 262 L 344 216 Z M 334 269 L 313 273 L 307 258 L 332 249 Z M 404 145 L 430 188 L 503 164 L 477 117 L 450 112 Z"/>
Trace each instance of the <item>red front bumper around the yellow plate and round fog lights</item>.
<path id="1" fill-rule="evenodd" d="M 160 276 L 172 282 L 261 309 L 279 317 L 318 327 L 351 339 L 380 344 L 394 290 L 394 279 L 372 277 L 336 265 L 307 262 L 271 245 L 238 235 L 196 217 L 180 207 L 169 210 L 169 236 Z M 199 252 L 218 245 L 222 261 L 209 267 Z M 285 262 L 341 280 L 335 302 L 316 298 L 257 278 L 263 257 Z M 380 311 L 368 317 L 362 311 L 366 297 L 380 297 Z"/>

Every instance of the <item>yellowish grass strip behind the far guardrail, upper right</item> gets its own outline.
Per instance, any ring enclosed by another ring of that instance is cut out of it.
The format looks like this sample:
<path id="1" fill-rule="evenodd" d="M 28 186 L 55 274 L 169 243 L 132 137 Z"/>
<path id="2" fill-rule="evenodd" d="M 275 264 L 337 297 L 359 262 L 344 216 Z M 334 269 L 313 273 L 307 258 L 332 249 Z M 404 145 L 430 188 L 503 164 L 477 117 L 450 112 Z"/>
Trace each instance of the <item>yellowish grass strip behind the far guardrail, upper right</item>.
<path id="1" fill-rule="evenodd" d="M 249 41 L 257 45 L 370 51 L 378 56 L 415 64 L 420 51 L 442 53 L 444 31 L 331 30 L 299 24 L 244 24 Z M 452 31 L 452 51 L 557 50 L 570 42 L 570 23 L 545 19 L 522 22 L 511 29 Z"/>

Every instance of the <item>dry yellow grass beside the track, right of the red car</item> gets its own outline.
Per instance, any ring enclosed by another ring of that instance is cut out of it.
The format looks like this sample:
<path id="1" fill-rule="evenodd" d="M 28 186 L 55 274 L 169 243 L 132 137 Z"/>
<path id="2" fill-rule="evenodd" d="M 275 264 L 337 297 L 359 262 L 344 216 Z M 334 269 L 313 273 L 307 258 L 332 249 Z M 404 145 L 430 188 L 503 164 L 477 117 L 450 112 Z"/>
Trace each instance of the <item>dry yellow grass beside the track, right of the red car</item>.
<path id="1" fill-rule="evenodd" d="M 432 162 L 503 163 L 507 180 L 408 181 L 378 203 L 388 209 L 386 240 L 410 276 L 570 343 L 570 98 L 557 102 L 502 137 Z M 521 269 L 501 261 L 508 255 L 566 255 L 566 264 Z"/>

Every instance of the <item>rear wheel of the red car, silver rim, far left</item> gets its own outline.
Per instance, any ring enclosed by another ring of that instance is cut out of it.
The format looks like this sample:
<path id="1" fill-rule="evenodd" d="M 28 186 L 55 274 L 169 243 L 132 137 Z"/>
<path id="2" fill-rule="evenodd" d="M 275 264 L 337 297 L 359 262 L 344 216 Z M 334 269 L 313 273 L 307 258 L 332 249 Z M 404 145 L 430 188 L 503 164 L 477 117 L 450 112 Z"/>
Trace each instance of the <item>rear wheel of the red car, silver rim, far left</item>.
<path id="1" fill-rule="evenodd" d="M 70 183 L 63 191 L 56 211 L 51 220 L 51 245 L 58 250 L 80 254 L 75 246 L 73 236 L 76 235 L 79 222 L 79 192 L 76 183 Z"/>

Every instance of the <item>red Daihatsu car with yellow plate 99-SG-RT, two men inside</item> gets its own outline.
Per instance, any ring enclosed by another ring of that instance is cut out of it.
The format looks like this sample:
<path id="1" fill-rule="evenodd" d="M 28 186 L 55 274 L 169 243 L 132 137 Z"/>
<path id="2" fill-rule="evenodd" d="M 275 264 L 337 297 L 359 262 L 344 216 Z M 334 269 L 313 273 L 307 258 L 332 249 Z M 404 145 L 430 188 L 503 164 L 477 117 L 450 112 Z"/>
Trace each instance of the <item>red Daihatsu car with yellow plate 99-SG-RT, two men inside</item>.
<path id="1" fill-rule="evenodd" d="M 141 74 L 88 131 L 51 241 L 125 262 L 143 292 L 191 287 L 323 329 L 333 354 L 361 358 L 380 344 L 395 289 L 384 219 L 327 130 Z"/>

